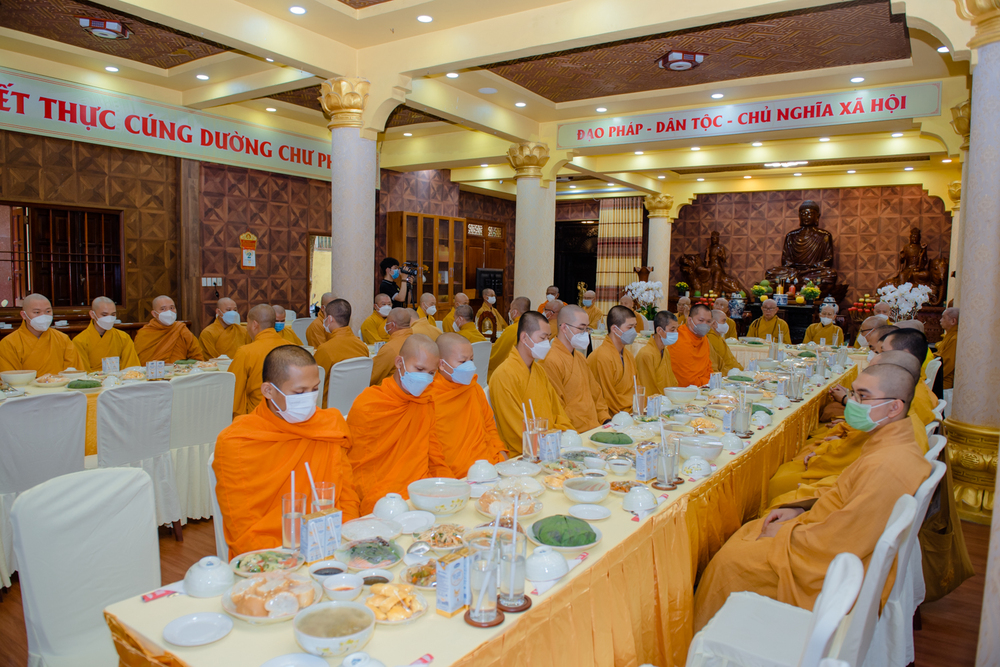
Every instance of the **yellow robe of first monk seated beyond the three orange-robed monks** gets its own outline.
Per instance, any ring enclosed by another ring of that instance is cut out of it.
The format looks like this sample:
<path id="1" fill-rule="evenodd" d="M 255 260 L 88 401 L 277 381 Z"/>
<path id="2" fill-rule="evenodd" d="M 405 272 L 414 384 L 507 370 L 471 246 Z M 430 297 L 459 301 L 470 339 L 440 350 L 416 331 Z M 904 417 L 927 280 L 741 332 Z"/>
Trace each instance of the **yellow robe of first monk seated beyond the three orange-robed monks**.
<path id="1" fill-rule="evenodd" d="M 541 364 L 535 362 L 528 368 L 517 348 L 513 348 L 507 355 L 507 360 L 497 367 L 490 377 L 489 385 L 497 431 L 512 455 L 521 453 L 521 434 L 524 432 L 521 404 L 529 410 L 530 416 L 529 400 L 535 408 L 535 417 L 548 419 L 549 428 L 560 431 L 573 429 L 573 422 L 566 414 L 566 409 Z"/>

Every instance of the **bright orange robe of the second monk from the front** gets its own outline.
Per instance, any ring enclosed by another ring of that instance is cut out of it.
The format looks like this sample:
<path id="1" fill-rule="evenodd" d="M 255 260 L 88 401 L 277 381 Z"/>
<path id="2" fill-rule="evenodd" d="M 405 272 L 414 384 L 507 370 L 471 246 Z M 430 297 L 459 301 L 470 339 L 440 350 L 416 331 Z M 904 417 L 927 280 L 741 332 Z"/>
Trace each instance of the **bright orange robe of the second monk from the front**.
<path id="1" fill-rule="evenodd" d="M 457 476 L 445 462 L 437 438 L 429 390 L 411 396 L 395 378 L 386 378 L 354 400 L 347 425 L 362 516 L 370 514 L 387 493 L 409 498 L 406 487 L 418 479 Z"/>

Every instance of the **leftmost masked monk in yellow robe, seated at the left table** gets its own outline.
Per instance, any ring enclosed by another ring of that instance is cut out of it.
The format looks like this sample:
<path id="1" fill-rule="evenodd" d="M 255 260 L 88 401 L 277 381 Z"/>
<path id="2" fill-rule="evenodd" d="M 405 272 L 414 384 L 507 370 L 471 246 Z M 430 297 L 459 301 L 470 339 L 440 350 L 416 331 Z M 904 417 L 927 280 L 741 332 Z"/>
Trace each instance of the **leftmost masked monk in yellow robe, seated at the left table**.
<path id="1" fill-rule="evenodd" d="M 52 304 L 41 294 L 21 300 L 21 327 L 0 340 L 0 371 L 35 371 L 36 377 L 83 370 L 73 341 L 52 326 Z"/>

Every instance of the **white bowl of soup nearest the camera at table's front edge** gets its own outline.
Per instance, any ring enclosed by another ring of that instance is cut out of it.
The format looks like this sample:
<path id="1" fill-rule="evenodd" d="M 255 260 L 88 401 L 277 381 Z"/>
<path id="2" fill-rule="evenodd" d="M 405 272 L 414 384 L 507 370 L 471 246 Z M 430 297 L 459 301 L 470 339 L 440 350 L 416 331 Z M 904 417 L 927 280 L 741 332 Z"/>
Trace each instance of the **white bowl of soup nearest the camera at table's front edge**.
<path id="1" fill-rule="evenodd" d="M 295 641 L 324 658 L 360 651 L 375 633 L 375 613 L 360 602 L 321 602 L 292 621 Z"/>

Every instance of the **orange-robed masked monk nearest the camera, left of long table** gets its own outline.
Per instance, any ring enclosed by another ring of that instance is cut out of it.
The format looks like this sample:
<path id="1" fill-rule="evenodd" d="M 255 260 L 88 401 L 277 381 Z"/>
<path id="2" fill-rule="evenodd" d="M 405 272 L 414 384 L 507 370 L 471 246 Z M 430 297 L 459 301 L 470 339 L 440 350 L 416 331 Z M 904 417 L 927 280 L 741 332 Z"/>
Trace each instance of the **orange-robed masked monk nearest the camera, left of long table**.
<path id="1" fill-rule="evenodd" d="M 319 371 L 312 355 L 283 345 L 267 354 L 261 371 L 265 400 L 215 442 L 215 493 L 230 557 L 281 546 L 281 496 L 293 470 L 295 491 L 311 498 L 306 463 L 317 483 L 336 486 L 343 520 L 359 516 L 347 458 L 351 434 L 340 412 L 316 409 Z"/>

